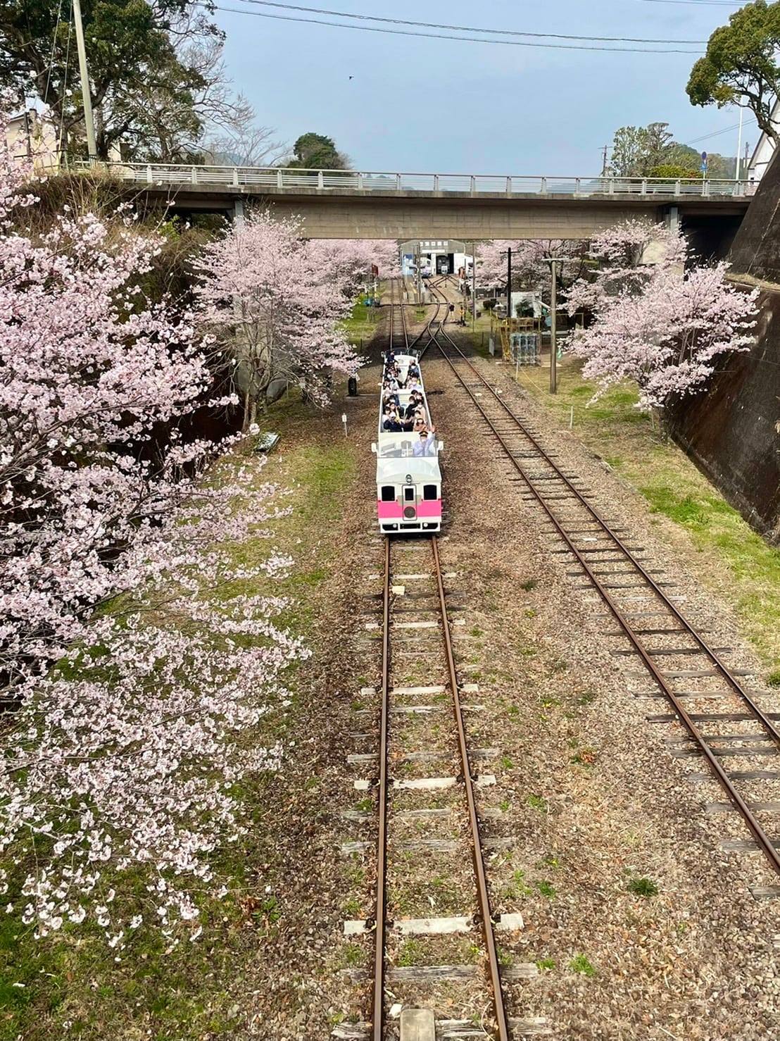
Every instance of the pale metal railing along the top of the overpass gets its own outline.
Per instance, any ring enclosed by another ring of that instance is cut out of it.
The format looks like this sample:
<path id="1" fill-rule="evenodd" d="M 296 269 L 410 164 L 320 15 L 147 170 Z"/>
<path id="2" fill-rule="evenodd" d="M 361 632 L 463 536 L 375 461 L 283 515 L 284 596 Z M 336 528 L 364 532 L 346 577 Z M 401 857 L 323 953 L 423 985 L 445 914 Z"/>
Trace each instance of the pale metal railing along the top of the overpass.
<path id="1" fill-rule="evenodd" d="M 123 180 L 157 186 L 259 188 L 272 195 L 295 188 L 318 192 L 421 192 L 479 196 L 702 197 L 751 196 L 755 182 L 668 177 L 499 177 L 492 174 L 397 174 L 281 167 L 186 166 L 172 162 L 105 162 L 98 167 Z M 79 162 L 77 169 L 89 169 Z"/>

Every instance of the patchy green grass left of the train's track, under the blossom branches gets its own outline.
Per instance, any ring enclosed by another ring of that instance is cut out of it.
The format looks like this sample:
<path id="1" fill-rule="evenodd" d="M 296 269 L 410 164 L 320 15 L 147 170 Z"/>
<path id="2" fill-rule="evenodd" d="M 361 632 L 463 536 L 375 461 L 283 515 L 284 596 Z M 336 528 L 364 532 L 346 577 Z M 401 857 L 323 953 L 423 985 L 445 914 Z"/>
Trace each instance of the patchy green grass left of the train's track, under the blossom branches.
<path id="1" fill-rule="evenodd" d="M 271 410 L 271 422 L 281 429 L 283 440 L 286 425 L 301 415 L 301 406 L 294 401 L 289 408 L 278 405 Z M 236 581 L 206 589 L 203 595 L 217 602 L 243 592 L 290 596 L 293 602 L 282 624 L 306 639 L 329 574 L 336 536 L 329 538 L 328 533 L 333 531 L 333 516 L 338 515 L 355 473 L 355 451 L 346 439 L 335 446 L 293 440 L 283 454 L 272 455 L 267 466 L 258 466 L 259 483 L 279 480 L 283 487 L 292 489 L 282 500 L 282 505 L 291 507 L 291 514 L 267 525 L 272 531 L 270 541 L 251 537 L 223 549 L 231 564 L 251 566 L 265 559 L 272 547 L 290 552 L 297 562 L 286 578 Z M 252 457 L 244 463 L 250 469 Z M 291 669 L 285 680 L 292 697 L 289 711 L 294 713 L 300 696 L 297 669 Z M 256 739 L 262 743 L 269 737 L 284 739 L 293 723 L 287 713 L 272 711 L 263 718 Z M 236 895 L 217 900 L 206 893 L 197 894 L 203 923 L 199 942 L 185 939 L 168 951 L 164 937 L 141 928 L 130 935 L 122 960 L 114 961 L 101 931 L 82 926 L 77 932 L 66 926 L 35 940 L 32 930 L 21 922 L 23 902 L 17 911 L 0 917 L 0 1041 L 60 1037 L 200 1041 L 240 1036 L 246 1012 L 240 995 L 262 986 L 256 975 L 258 953 L 286 928 L 289 913 L 282 891 L 276 887 L 265 891 L 276 856 L 272 822 L 265 810 L 270 783 L 267 776 L 258 773 L 237 789 L 249 832 L 240 842 L 216 850 L 212 859 L 215 878 L 225 881 Z M 312 777 L 304 788 L 318 785 L 319 779 Z M 140 878 L 131 872 L 111 878 L 110 867 L 101 868 L 116 888 L 118 906 L 146 900 Z M 353 871 L 356 887 L 363 885 L 362 866 L 354 865 Z M 346 964 L 358 964 L 362 949 L 345 944 L 340 957 Z"/>

